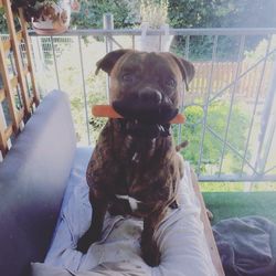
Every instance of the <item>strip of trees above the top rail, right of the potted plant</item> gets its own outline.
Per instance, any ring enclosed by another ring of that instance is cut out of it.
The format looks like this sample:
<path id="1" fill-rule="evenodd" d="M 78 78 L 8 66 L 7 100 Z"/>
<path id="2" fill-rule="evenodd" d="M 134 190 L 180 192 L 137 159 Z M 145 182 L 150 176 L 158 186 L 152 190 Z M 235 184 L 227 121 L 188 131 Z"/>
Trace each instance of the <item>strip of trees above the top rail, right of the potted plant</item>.
<path id="1" fill-rule="evenodd" d="M 174 28 L 276 26 L 275 0 L 170 0 Z"/>

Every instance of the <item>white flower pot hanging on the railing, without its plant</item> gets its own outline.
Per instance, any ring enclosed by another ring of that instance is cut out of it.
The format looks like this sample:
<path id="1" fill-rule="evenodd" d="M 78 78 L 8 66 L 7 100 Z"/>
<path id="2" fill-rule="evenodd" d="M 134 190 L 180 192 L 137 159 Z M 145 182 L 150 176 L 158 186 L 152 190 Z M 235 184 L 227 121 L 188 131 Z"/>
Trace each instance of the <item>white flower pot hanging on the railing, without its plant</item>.
<path id="1" fill-rule="evenodd" d="M 169 34 L 169 25 L 160 26 L 164 31 L 163 35 L 148 35 L 147 31 L 150 30 L 148 23 L 141 24 L 141 36 L 135 38 L 135 47 L 145 52 L 169 52 L 173 35 Z"/>

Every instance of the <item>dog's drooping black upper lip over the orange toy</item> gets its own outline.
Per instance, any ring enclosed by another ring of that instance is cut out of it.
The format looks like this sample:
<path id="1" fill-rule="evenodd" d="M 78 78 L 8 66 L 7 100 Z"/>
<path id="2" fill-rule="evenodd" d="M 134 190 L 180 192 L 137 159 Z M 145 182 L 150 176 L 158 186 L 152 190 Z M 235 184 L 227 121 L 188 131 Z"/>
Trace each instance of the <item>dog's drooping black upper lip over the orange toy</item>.
<path id="1" fill-rule="evenodd" d="M 144 124 L 167 124 L 178 114 L 178 108 L 171 108 L 166 104 L 150 105 L 140 103 L 113 102 L 114 109 L 126 119 L 139 120 Z"/>

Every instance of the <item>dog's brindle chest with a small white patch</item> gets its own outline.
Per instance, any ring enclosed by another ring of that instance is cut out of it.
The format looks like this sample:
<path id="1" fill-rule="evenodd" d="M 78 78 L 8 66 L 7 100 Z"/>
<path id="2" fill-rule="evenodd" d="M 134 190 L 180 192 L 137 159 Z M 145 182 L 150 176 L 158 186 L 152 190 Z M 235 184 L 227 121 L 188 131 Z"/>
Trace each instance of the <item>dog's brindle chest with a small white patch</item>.
<path id="1" fill-rule="evenodd" d="M 121 132 L 118 121 L 107 124 L 88 174 L 95 190 L 108 191 L 113 214 L 145 216 L 168 201 L 172 149 L 171 137 L 132 138 Z"/>

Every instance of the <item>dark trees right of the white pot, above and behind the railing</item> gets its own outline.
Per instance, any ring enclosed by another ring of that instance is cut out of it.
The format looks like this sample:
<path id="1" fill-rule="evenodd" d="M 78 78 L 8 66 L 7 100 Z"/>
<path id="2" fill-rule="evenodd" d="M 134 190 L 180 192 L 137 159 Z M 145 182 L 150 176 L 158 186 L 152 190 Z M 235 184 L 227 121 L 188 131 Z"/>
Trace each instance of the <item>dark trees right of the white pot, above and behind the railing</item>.
<path id="1" fill-rule="evenodd" d="M 173 28 L 268 28 L 276 26 L 275 0 L 170 0 L 169 17 Z M 266 36 L 246 38 L 245 50 L 252 51 Z M 184 54 L 184 38 L 176 38 L 174 51 Z M 237 59 L 237 36 L 220 36 L 217 60 Z M 210 60 L 213 39 L 191 36 L 189 57 Z"/>

